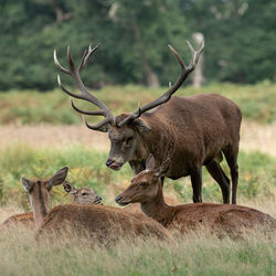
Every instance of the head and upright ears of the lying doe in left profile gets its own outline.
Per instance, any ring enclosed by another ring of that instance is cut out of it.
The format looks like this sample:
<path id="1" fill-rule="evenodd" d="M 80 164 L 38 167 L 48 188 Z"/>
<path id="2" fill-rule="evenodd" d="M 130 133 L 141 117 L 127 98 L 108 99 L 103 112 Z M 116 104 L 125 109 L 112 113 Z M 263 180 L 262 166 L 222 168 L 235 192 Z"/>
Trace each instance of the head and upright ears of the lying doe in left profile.
<path id="1" fill-rule="evenodd" d="M 119 205 L 129 203 L 147 203 L 152 202 L 160 189 L 162 189 L 161 177 L 168 171 L 170 159 L 168 158 L 159 168 L 156 168 L 156 160 L 149 155 L 146 162 L 146 170 L 139 172 L 131 180 L 131 184 L 115 201 Z"/>

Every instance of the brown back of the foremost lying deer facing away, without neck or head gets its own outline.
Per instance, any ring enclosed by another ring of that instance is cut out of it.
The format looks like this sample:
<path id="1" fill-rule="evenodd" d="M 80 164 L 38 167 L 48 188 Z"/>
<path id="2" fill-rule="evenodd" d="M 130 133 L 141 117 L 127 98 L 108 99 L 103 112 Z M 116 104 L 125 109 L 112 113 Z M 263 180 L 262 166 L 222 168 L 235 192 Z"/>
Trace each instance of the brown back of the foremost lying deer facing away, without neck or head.
<path id="1" fill-rule="evenodd" d="M 167 230 L 155 220 L 135 215 L 119 208 L 106 205 L 67 204 L 55 206 L 36 232 L 66 236 L 78 235 L 99 242 L 117 241 L 118 237 L 170 238 Z"/>

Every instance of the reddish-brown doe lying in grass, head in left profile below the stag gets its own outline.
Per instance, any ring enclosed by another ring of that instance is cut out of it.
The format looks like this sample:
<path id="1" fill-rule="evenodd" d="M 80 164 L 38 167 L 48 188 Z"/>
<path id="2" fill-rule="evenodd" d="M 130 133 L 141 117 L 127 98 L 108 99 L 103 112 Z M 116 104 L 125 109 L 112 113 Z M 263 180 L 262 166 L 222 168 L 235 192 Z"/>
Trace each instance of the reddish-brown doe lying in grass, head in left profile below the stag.
<path id="1" fill-rule="evenodd" d="M 146 170 L 134 177 L 131 184 L 115 201 L 120 205 L 139 202 L 141 210 L 170 230 L 187 233 L 208 227 L 219 236 L 224 233 L 240 237 L 261 226 L 265 233 L 276 226 L 276 220 L 257 210 L 232 204 L 197 203 L 170 206 L 162 193 L 161 177 L 169 169 L 169 159 L 157 169 L 155 158 L 149 156 Z"/>

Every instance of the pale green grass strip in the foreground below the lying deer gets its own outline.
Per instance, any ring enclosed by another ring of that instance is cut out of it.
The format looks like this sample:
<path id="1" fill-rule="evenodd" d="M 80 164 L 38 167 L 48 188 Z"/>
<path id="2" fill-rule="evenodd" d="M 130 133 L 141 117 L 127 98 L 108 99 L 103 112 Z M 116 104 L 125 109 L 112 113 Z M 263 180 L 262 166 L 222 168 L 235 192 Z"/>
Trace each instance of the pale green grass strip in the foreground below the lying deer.
<path id="1" fill-rule="evenodd" d="M 176 243 L 125 240 L 109 247 L 79 237 L 35 243 L 33 232 L 0 235 L 1 275 L 275 275 L 276 243 L 253 235 L 243 241 L 191 234 Z M 92 246 L 94 245 L 94 246 Z"/>

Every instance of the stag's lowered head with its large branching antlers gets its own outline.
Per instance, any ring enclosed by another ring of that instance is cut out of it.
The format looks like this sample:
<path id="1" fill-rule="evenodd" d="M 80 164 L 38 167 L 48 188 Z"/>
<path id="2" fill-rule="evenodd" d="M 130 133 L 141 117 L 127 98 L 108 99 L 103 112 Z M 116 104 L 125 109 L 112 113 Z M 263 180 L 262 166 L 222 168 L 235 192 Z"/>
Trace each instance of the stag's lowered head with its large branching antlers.
<path id="1" fill-rule="evenodd" d="M 68 59 L 70 68 L 65 68 L 60 64 L 57 56 L 56 56 L 56 51 L 54 51 L 55 65 L 63 73 L 71 75 L 74 78 L 76 86 L 81 91 L 81 94 L 75 94 L 66 89 L 63 86 L 60 75 L 59 75 L 57 83 L 60 87 L 71 97 L 89 102 L 98 108 L 98 110 L 95 110 L 95 112 L 82 110 L 75 106 L 73 100 L 71 100 L 72 107 L 76 112 L 83 114 L 84 123 L 89 129 L 108 132 L 108 137 L 110 139 L 110 151 L 106 161 L 106 166 L 109 167 L 110 169 L 119 170 L 124 163 L 132 160 L 132 156 L 137 149 L 137 145 L 140 141 L 140 137 L 142 137 L 144 135 L 147 135 L 150 131 L 150 126 L 147 125 L 147 123 L 140 116 L 144 113 L 168 102 L 171 95 L 181 86 L 181 84 L 184 82 L 188 75 L 194 70 L 198 63 L 198 60 L 200 57 L 200 54 L 204 49 L 204 42 L 202 43 L 202 46 L 200 47 L 199 51 L 194 51 L 190 42 L 187 41 L 187 43 L 192 52 L 192 60 L 188 66 L 184 65 L 184 62 L 181 60 L 177 51 L 171 45 L 169 45 L 170 51 L 177 57 L 181 66 L 181 73 L 177 82 L 172 86 L 170 86 L 170 88 L 162 96 L 155 99 L 153 102 L 142 107 L 139 107 L 132 114 L 128 114 L 128 115 L 123 114 L 117 117 L 112 115 L 107 106 L 99 98 L 93 95 L 85 87 L 85 85 L 83 84 L 81 79 L 81 75 L 79 75 L 81 71 L 86 65 L 92 54 L 98 49 L 98 45 L 96 45 L 95 47 L 89 46 L 88 50 L 85 50 L 78 66 L 75 66 L 72 60 L 71 50 L 68 47 L 67 59 Z M 103 116 L 104 119 L 96 125 L 91 125 L 87 123 L 84 115 Z"/>

